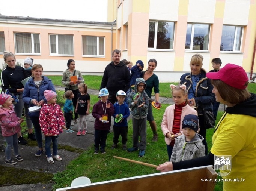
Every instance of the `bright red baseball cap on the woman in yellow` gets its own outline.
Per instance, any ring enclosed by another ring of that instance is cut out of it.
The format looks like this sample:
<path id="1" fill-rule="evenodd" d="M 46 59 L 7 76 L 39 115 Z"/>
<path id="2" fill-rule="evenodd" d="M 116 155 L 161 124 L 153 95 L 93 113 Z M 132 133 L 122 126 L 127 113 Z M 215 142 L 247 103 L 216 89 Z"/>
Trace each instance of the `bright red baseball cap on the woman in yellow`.
<path id="1" fill-rule="evenodd" d="M 206 77 L 212 80 L 221 80 L 229 86 L 237 89 L 245 89 L 245 83 L 249 80 L 248 76 L 241 66 L 235 64 L 226 64 L 218 72 L 208 72 Z"/>

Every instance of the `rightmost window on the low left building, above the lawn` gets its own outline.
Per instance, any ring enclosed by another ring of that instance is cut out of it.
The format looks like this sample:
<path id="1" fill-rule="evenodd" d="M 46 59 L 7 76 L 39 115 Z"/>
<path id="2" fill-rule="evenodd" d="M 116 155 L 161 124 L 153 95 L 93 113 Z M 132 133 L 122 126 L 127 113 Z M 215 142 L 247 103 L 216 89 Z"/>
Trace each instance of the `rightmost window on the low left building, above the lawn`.
<path id="1" fill-rule="evenodd" d="M 84 56 L 105 56 L 105 37 L 83 36 Z"/>

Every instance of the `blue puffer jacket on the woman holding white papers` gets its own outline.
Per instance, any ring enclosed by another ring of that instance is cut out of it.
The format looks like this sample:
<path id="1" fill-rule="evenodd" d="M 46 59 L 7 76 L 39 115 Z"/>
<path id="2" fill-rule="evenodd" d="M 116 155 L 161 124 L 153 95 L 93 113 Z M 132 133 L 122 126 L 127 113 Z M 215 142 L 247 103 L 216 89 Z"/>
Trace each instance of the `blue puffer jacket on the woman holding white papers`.
<path id="1" fill-rule="evenodd" d="M 46 76 L 42 76 L 42 78 L 42 83 L 38 87 L 34 83 L 33 78 L 29 79 L 24 87 L 22 99 L 26 104 L 29 104 L 29 107 L 35 106 L 34 104 L 30 104 L 30 100 L 32 99 L 36 99 L 38 102 L 44 99 L 44 103 L 47 103 L 47 100 L 44 97 L 45 90 L 53 90 L 54 92 L 56 92 L 51 80 Z M 32 113 L 29 112 L 29 116 L 39 117 L 39 111 Z"/>

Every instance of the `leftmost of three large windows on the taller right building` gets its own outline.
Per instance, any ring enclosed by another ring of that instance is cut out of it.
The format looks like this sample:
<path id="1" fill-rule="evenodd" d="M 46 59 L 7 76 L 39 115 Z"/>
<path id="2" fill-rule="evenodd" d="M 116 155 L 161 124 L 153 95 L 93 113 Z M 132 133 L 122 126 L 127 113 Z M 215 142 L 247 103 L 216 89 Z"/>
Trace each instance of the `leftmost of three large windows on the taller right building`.
<path id="1" fill-rule="evenodd" d="M 157 29 L 157 30 L 156 30 Z M 148 47 L 173 49 L 174 22 L 150 21 Z"/>

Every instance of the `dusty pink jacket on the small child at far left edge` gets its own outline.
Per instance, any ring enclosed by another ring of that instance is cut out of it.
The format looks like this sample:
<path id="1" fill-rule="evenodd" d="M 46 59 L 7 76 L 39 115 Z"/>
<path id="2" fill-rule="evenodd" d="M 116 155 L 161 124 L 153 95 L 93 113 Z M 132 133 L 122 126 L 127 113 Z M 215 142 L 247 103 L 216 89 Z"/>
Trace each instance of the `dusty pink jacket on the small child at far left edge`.
<path id="1" fill-rule="evenodd" d="M 2 128 L 2 135 L 5 137 L 12 136 L 21 130 L 19 118 L 17 117 L 13 106 L 11 110 L 4 107 L 0 108 L 0 123 Z"/>

